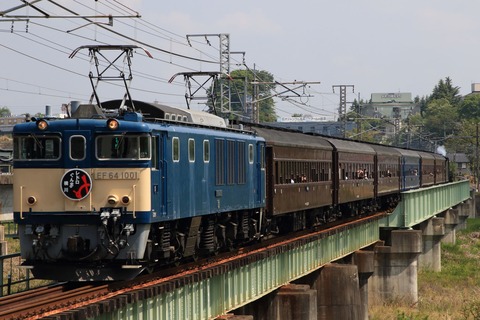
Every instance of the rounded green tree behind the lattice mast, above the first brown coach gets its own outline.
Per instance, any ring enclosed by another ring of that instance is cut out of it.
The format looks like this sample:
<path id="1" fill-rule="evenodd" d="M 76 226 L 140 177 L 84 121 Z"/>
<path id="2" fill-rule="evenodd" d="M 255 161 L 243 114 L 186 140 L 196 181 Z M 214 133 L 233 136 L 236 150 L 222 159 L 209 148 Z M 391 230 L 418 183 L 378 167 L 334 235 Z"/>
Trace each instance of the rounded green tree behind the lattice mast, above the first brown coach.
<path id="1" fill-rule="evenodd" d="M 275 102 L 272 97 L 272 90 L 275 88 L 274 77 L 268 71 L 260 70 L 234 70 L 230 73 L 230 102 L 232 112 L 230 114 L 222 113 L 219 110 L 220 106 L 220 85 L 218 81 L 215 85 L 216 95 L 216 113 L 223 117 L 230 119 L 245 118 L 252 121 L 252 115 L 247 113 L 251 110 L 253 103 L 257 102 L 258 116 L 260 122 L 275 122 L 277 115 L 275 113 Z M 258 84 L 252 84 L 258 82 Z M 256 86 L 256 96 L 254 96 L 254 86 Z M 210 92 L 210 88 L 208 89 Z M 211 99 L 208 101 L 208 108 L 210 113 L 214 113 L 213 103 Z"/>

